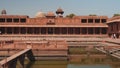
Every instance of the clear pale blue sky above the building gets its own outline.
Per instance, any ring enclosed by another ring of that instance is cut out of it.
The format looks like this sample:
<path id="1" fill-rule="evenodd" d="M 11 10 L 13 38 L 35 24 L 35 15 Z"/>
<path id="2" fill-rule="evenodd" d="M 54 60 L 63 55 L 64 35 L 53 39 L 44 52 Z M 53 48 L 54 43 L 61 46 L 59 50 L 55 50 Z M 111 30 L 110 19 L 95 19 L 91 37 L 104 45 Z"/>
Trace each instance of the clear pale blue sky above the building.
<path id="1" fill-rule="evenodd" d="M 120 0 L 0 0 L 0 11 L 5 9 L 8 15 L 35 17 L 37 12 L 55 12 L 59 7 L 64 10 L 64 16 L 120 14 Z"/>

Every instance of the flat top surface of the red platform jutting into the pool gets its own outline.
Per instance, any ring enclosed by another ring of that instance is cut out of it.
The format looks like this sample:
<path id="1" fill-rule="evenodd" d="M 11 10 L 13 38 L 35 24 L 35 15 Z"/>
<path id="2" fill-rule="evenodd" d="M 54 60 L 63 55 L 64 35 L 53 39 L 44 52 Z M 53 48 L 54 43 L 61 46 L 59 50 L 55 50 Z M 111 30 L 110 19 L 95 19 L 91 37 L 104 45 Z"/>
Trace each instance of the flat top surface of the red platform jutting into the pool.
<path id="1" fill-rule="evenodd" d="M 0 49 L 39 49 L 39 50 L 66 50 L 67 42 L 64 40 L 44 40 L 44 41 L 15 41 L 14 43 L 1 44 Z"/>

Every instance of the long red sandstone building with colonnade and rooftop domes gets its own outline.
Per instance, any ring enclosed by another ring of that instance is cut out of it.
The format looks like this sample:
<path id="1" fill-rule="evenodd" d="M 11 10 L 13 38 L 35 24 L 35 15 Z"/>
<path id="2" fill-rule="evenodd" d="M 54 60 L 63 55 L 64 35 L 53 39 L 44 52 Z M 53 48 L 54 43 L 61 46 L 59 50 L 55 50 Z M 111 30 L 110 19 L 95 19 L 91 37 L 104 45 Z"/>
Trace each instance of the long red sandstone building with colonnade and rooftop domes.
<path id="1" fill-rule="evenodd" d="M 6 11 L 2 10 L 0 33 L 2 36 L 108 36 L 108 34 L 116 33 L 119 37 L 120 21 L 116 23 L 116 20 L 113 21 L 114 18 L 110 20 L 107 16 L 75 16 L 68 18 L 63 17 L 63 13 L 64 11 L 59 8 L 56 14 L 53 12 L 47 14 L 39 12 L 35 18 L 29 18 L 26 15 L 6 15 Z M 119 24 L 119 26 L 112 23 Z"/>

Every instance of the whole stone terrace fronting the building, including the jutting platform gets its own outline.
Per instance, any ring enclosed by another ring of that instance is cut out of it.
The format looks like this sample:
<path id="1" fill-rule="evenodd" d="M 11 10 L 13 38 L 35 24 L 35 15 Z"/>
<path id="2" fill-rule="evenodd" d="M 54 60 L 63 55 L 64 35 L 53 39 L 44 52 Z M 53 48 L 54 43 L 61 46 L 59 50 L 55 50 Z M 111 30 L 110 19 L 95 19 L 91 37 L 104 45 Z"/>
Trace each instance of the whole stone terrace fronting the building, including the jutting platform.
<path id="1" fill-rule="evenodd" d="M 22 37 L 21 37 L 22 38 Z M 79 37 L 56 37 L 56 38 L 39 38 L 39 37 L 26 37 L 24 39 L 17 39 L 15 37 L 11 40 L 0 41 L 0 55 L 13 55 L 14 53 L 26 49 L 32 48 L 34 56 L 36 58 L 41 57 L 52 57 L 55 58 L 67 57 L 69 47 L 81 47 L 90 46 L 89 48 L 96 46 L 107 46 L 110 48 L 120 47 L 120 39 L 112 38 L 79 38 Z M 70 45 L 72 44 L 72 45 Z M 91 47 L 92 46 L 92 47 Z"/>

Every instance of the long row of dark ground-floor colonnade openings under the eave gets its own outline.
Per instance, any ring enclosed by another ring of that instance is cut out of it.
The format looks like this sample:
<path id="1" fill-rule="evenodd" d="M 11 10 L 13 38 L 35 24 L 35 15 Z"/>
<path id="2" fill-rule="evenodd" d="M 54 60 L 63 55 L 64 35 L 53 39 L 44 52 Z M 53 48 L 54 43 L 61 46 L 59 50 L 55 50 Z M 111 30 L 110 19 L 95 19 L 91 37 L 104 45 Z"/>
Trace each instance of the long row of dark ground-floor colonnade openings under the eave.
<path id="1" fill-rule="evenodd" d="M 107 28 L 95 27 L 0 27 L 1 34 L 107 34 Z"/>

